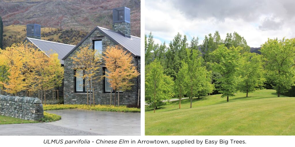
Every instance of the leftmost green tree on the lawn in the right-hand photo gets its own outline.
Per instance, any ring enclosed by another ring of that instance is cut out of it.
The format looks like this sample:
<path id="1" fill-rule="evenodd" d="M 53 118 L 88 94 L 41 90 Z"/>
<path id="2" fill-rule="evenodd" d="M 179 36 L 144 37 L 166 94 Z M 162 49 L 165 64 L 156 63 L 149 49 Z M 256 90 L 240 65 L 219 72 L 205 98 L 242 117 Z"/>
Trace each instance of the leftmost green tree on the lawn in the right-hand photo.
<path id="1" fill-rule="evenodd" d="M 145 66 L 145 98 L 148 99 L 148 105 L 154 108 L 154 113 L 157 106 L 161 106 L 167 101 L 165 90 L 165 74 L 160 62 L 154 60 L 149 65 Z"/>

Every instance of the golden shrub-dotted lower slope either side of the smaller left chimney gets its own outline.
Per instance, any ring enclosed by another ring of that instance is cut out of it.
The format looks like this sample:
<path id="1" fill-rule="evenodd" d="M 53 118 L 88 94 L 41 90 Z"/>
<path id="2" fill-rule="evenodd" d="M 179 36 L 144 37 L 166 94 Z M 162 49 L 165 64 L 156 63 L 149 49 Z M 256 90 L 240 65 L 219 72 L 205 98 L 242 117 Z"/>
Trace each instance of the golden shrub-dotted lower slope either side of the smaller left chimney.
<path id="1" fill-rule="evenodd" d="M 21 42 L 26 37 L 26 25 L 4 26 L 3 31 L 4 48 L 11 46 L 13 43 Z M 74 29 L 41 28 L 42 40 L 64 44 L 77 45 L 86 35 L 87 32 Z"/>

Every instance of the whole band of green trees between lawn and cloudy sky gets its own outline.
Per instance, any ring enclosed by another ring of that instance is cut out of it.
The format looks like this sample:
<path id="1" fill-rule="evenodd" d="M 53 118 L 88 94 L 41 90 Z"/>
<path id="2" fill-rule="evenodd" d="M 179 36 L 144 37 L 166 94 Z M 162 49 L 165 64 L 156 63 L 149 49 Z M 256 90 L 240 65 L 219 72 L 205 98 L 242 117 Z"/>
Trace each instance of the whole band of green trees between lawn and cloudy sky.
<path id="1" fill-rule="evenodd" d="M 221 39 L 219 32 L 208 34 L 199 45 L 198 37 L 188 44 L 177 34 L 168 47 L 155 44 L 153 35 L 145 35 L 145 98 L 157 108 L 172 97 L 190 98 L 210 94 L 235 96 L 266 87 L 278 97 L 294 85 L 295 39 L 268 39 L 261 45 L 261 55 L 250 53 L 250 46 L 237 32 Z M 190 106 L 192 107 L 192 106 Z"/>

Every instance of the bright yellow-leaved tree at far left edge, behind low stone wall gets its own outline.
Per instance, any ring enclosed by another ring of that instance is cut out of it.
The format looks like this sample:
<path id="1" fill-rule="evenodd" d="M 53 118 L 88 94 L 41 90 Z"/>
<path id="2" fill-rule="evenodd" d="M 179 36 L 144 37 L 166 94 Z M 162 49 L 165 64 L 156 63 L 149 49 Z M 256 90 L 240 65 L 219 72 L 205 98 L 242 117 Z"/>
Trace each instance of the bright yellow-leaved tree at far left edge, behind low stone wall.
<path id="1" fill-rule="evenodd" d="M 18 46 L 19 44 L 13 44 L 11 47 L 6 47 L 0 54 L 0 64 L 1 66 L 7 66 L 9 73 L 7 75 L 9 80 L 0 81 L 0 83 L 5 87 L 3 89 L 5 92 L 12 93 L 15 96 L 17 96 L 17 92 L 24 90 L 26 86 L 25 76 L 22 73 L 24 61 L 18 51 Z"/>

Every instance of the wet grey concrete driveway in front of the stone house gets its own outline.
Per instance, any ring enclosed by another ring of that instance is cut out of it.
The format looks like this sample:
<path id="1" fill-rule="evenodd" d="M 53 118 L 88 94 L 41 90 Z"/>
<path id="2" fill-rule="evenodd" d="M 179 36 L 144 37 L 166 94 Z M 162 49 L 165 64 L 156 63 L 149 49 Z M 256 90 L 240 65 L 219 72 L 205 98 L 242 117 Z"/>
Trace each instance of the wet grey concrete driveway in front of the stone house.
<path id="1" fill-rule="evenodd" d="M 0 125 L 0 135 L 140 135 L 140 113 L 79 109 L 46 112 L 58 114 L 62 119 Z"/>

